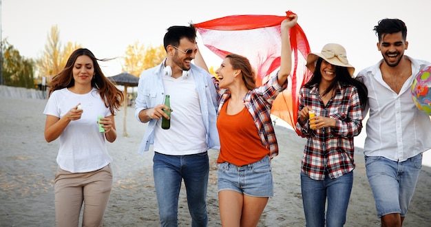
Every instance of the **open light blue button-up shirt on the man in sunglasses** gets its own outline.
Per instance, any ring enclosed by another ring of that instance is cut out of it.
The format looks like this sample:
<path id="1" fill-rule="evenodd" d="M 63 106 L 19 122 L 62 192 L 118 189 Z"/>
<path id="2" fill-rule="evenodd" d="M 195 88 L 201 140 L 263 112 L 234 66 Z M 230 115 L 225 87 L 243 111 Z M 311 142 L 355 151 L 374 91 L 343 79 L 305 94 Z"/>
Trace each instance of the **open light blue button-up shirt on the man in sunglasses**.
<path id="1" fill-rule="evenodd" d="M 161 105 L 164 102 L 165 88 L 163 87 L 163 63 L 147 69 L 140 74 L 138 83 L 138 96 L 136 97 L 135 116 L 139 119 L 139 112 L 143 109 L 153 108 L 156 105 Z M 190 67 L 193 78 L 195 79 L 196 89 L 199 96 L 200 111 L 202 112 L 202 121 L 207 136 L 208 149 L 220 149 L 220 140 L 216 127 L 217 121 L 217 92 L 209 74 L 204 69 L 191 64 Z M 149 145 L 154 144 L 154 128 L 157 120 L 151 119 L 148 122 L 147 130 L 145 131 L 143 141 L 140 144 L 138 153 L 141 155 L 143 151 L 149 150 Z"/>

